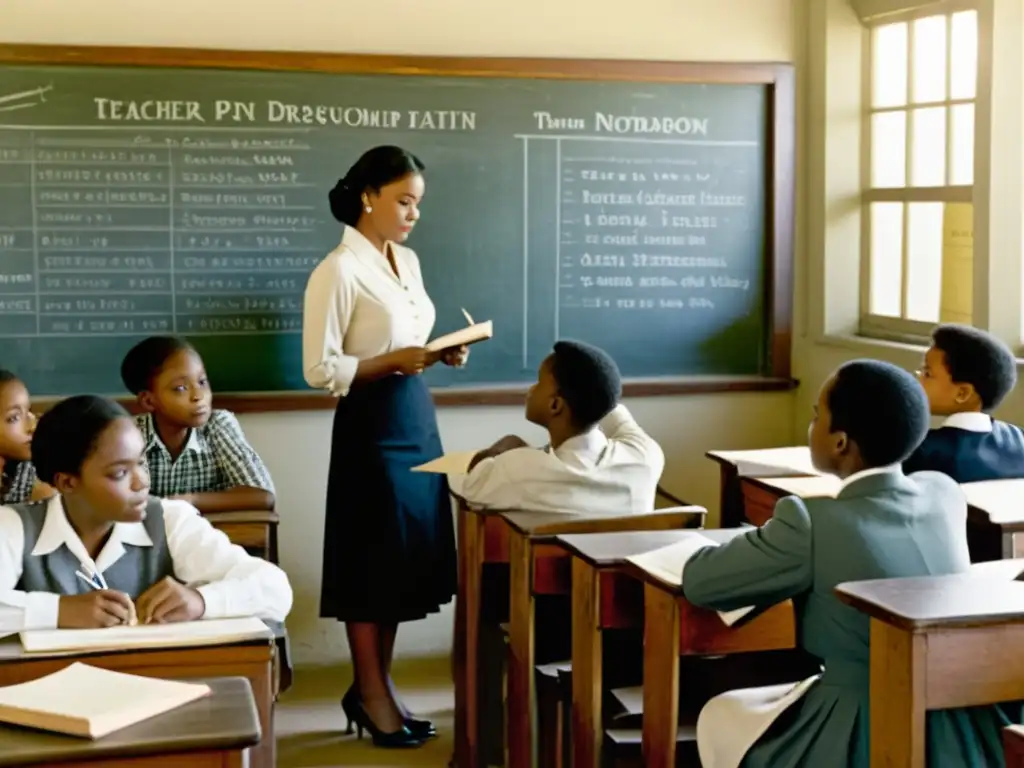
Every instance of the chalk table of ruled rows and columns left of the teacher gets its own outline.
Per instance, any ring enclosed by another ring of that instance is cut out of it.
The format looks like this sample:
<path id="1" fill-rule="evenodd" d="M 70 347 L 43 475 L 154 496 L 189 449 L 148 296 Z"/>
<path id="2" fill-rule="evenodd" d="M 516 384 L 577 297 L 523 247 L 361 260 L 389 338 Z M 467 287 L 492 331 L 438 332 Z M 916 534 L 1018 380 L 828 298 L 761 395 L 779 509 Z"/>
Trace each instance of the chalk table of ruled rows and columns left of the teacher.
<path id="1" fill-rule="evenodd" d="M 313 170 L 269 131 L 0 131 L 0 336 L 301 330 Z"/>

